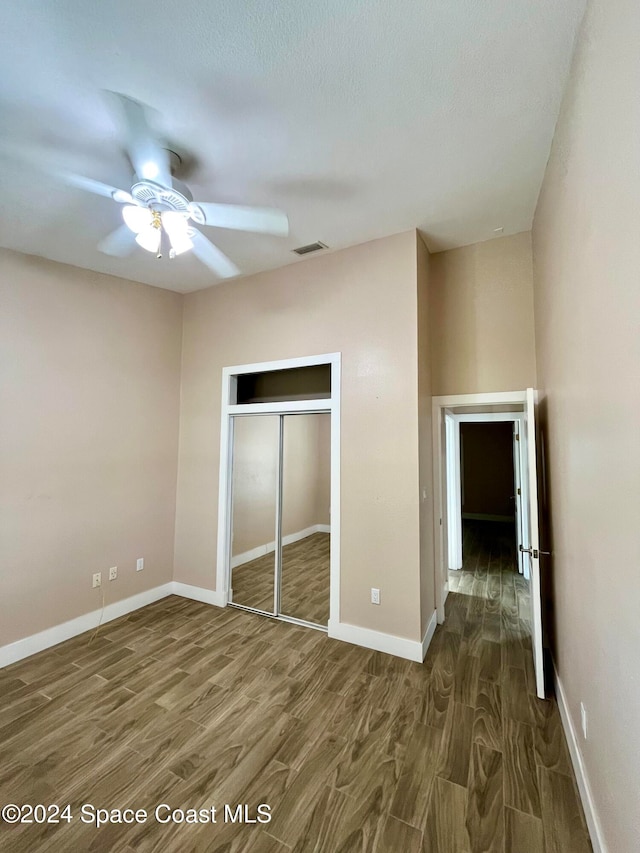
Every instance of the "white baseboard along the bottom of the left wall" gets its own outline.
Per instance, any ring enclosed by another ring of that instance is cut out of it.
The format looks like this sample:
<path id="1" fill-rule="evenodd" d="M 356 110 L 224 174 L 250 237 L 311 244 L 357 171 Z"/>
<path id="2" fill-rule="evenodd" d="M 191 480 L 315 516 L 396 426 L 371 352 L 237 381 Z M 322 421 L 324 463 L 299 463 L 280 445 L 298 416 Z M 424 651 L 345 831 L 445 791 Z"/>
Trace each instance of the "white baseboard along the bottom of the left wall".
<path id="1" fill-rule="evenodd" d="M 77 616 L 75 619 L 70 619 L 61 625 L 54 625 L 45 631 L 40 631 L 37 634 L 32 634 L 30 637 L 16 640 L 15 643 L 2 646 L 0 647 L 0 667 L 9 666 L 9 664 L 23 658 L 28 658 L 45 649 L 50 649 L 52 646 L 57 646 L 58 643 L 63 643 L 65 640 L 77 637 L 78 634 L 94 630 L 98 625 L 112 622 L 114 619 L 126 616 L 127 613 L 132 613 L 134 610 L 146 607 L 147 604 L 153 604 L 154 601 L 166 598 L 168 595 L 174 593 L 173 587 L 173 582 L 170 582 L 162 586 L 156 586 L 153 589 L 147 589 L 144 592 L 139 592 L 137 595 L 123 598 L 121 601 L 114 601 L 113 604 L 107 604 L 104 608 L 104 613 L 102 612 L 102 608 L 92 610 L 90 613 L 84 613 L 82 616 Z M 100 618 L 101 616 L 102 619 Z"/>

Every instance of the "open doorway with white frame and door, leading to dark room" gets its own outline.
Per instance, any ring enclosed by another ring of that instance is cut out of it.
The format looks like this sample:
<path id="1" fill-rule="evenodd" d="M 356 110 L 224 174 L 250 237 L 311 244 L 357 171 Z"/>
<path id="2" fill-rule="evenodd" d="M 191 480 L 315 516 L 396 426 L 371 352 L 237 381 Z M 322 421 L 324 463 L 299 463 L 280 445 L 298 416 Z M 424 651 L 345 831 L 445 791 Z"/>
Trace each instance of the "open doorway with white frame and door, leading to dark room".
<path id="1" fill-rule="evenodd" d="M 533 389 L 433 398 L 435 593 L 440 623 L 449 591 L 472 598 L 478 636 L 543 698 L 535 408 Z"/>

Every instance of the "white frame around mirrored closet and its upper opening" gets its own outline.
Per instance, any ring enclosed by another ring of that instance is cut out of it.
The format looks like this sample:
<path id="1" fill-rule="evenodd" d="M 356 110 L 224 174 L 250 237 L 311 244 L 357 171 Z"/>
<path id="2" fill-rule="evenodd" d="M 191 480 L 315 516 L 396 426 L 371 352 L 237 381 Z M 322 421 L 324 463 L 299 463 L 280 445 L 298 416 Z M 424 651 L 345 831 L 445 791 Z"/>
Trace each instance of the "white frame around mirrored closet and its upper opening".
<path id="1" fill-rule="evenodd" d="M 331 396 L 321 400 L 291 400 L 276 403 L 232 402 L 238 376 L 287 370 L 295 367 L 331 367 Z M 220 478 L 218 489 L 218 559 L 216 589 L 221 592 L 222 606 L 229 603 L 231 576 L 231 486 L 234 415 L 331 414 L 331 539 L 329 546 L 329 622 L 340 621 L 340 380 L 342 355 L 339 352 L 302 356 L 279 361 L 265 361 L 224 367 L 222 370 L 222 405 L 220 414 Z M 282 617 L 278 617 L 282 618 Z M 292 620 L 287 620 L 292 621 Z"/>

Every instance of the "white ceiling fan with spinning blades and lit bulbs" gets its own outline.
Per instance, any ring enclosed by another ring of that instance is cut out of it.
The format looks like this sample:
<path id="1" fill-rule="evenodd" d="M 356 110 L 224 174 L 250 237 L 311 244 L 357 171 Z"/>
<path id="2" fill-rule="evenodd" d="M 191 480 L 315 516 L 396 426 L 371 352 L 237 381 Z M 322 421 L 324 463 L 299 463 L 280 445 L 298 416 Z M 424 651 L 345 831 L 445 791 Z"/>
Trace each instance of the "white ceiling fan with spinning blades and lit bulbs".
<path id="1" fill-rule="evenodd" d="M 136 244 L 157 258 L 193 251 L 217 276 L 231 278 L 240 274 L 238 267 L 196 226 L 287 236 L 289 221 L 280 210 L 194 201 L 189 188 L 173 177 L 172 152 L 154 134 L 143 104 L 116 92 L 110 95 L 119 104 L 126 131 L 125 148 L 135 173 L 131 188 L 127 191 L 81 175 L 54 172 L 71 186 L 122 205 L 124 224 L 98 244 L 101 252 L 125 257 Z"/>

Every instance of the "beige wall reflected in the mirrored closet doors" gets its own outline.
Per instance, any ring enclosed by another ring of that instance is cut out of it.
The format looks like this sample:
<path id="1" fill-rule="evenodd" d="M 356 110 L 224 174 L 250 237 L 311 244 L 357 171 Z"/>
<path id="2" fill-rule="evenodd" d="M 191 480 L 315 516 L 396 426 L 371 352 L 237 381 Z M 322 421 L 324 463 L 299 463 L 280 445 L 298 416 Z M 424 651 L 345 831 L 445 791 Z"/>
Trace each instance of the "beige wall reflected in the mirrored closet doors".
<path id="1" fill-rule="evenodd" d="M 233 556 L 275 538 L 277 416 L 235 419 Z M 331 415 L 284 419 L 282 535 L 330 523 Z"/>

